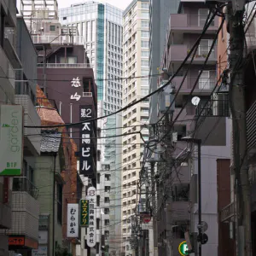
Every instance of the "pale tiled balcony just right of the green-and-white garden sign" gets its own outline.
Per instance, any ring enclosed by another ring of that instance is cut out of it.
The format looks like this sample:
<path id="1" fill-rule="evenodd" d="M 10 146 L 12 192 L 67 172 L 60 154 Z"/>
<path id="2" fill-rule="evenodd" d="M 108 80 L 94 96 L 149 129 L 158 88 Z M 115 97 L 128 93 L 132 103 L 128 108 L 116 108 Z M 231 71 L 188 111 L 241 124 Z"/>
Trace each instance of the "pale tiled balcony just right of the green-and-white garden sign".
<path id="1" fill-rule="evenodd" d="M 24 108 L 24 125 L 40 126 L 41 119 L 28 95 L 15 95 L 15 104 Z M 40 154 L 41 133 L 39 128 L 24 128 L 24 155 Z M 37 134 L 38 136 L 30 136 Z"/>

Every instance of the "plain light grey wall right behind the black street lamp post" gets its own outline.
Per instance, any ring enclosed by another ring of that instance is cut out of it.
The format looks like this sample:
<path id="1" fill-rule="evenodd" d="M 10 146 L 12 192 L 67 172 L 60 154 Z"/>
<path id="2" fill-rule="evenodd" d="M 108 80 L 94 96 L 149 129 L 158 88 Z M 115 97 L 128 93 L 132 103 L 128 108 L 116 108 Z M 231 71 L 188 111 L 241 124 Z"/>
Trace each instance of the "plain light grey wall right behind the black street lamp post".
<path id="1" fill-rule="evenodd" d="M 203 255 L 218 255 L 218 195 L 217 195 L 217 159 L 230 158 L 230 129 L 231 120 L 225 119 L 225 145 L 201 147 L 201 212 L 202 220 L 208 224 L 206 231 L 208 236 L 207 244 L 202 246 Z M 219 132 L 218 134 L 221 134 Z M 212 134 L 212 137 L 217 138 Z M 218 137 L 220 137 L 218 135 Z M 195 174 L 197 174 L 197 160 L 195 160 Z M 198 215 L 197 204 L 192 209 L 194 230 L 197 231 Z"/>

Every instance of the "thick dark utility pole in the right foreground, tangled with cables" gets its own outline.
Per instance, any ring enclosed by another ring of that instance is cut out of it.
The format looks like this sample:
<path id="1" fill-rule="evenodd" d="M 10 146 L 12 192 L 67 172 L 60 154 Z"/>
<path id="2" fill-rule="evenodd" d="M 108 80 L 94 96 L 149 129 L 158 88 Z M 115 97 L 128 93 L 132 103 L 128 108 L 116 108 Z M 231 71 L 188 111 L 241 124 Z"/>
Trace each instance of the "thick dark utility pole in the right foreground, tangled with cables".
<path id="1" fill-rule="evenodd" d="M 228 7 L 230 32 L 230 110 L 233 126 L 233 164 L 236 191 L 236 255 L 252 256 L 251 206 L 247 163 L 247 125 L 243 86 L 243 15 L 245 3 Z"/>

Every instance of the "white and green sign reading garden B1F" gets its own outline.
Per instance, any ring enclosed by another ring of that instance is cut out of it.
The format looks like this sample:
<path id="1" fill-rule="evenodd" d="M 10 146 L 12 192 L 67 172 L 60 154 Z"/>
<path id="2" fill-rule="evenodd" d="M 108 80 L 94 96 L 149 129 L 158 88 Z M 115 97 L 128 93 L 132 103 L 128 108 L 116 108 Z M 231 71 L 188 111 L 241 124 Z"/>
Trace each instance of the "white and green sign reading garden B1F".
<path id="1" fill-rule="evenodd" d="M 21 175 L 23 108 L 0 105 L 0 176 Z"/>

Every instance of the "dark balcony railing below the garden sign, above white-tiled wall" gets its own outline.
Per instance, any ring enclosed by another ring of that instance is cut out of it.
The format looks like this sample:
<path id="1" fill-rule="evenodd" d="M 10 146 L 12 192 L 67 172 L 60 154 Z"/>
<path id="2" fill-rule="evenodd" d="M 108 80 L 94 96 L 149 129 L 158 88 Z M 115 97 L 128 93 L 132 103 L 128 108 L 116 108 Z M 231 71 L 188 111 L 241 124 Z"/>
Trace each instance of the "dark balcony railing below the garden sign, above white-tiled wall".
<path id="1" fill-rule="evenodd" d="M 27 177 L 14 177 L 13 191 L 26 192 L 33 198 L 38 198 L 38 188 Z"/>

